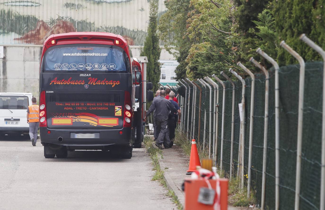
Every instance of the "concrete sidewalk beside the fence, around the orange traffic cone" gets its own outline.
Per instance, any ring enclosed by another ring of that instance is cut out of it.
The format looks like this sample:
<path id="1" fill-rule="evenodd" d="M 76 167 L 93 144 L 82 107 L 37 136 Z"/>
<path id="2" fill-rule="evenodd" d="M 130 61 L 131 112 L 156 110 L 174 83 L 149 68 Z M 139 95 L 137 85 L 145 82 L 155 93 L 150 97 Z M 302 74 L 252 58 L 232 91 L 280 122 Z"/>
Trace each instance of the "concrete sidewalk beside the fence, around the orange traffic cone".
<path id="1" fill-rule="evenodd" d="M 183 207 L 185 206 L 185 193 L 182 190 L 182 184 L 186 177 L 188 170 L 189 158 L 187 155 L 182 154 L 181 148 L 173 146 L 173 148 L 163 150 L 163 158 L 159 159 L 160 168 L 164 170 L 164 179 L 169 190 L 173 190 L 178 197 Z M 245 207 L 228 206 L 228 210 L 242 210 Z"/>

